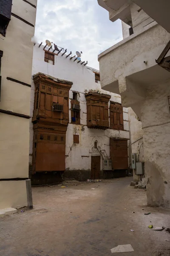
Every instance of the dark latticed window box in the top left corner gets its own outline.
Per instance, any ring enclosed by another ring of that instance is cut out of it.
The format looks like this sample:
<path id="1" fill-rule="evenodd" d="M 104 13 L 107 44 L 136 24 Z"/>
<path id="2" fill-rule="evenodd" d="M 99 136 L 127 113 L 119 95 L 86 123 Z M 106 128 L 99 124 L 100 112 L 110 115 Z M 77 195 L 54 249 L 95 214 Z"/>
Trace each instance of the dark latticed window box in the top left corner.
<path id="1" fill-rule="evenodd" d="M 12 0 L 0 0 L 0 34 L 6 35 L 6 29 L 11 20 Z"/>

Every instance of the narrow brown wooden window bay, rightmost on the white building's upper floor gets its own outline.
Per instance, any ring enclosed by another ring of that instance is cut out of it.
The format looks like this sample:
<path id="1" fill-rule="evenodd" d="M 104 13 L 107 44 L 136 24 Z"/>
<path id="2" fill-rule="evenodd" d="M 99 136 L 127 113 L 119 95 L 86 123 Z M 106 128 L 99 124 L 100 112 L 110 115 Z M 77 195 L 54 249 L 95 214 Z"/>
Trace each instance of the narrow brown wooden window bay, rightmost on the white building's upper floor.
<path id="1" fill-rule="evenodd" d="M 110 128 L 123 130 L 123 107 L 116 102 L 110 103 Z"/>

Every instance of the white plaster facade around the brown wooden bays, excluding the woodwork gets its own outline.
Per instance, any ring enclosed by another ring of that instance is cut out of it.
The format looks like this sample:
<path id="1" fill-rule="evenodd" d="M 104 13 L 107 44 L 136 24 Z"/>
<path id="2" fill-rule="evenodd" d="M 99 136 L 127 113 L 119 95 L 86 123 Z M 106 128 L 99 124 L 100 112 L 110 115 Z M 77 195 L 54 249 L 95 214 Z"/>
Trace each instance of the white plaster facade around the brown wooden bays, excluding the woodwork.
<path id="1" fill-rule="evenodd" d="M 77 64 L 77 61 L 70 61 L 70 57 L 65 58 L 66 55 L 61 56 L 61 53 L 55 56 L 55 65 L 48 64 L 44 61 L 43 46 L 40 48 L 36 44 L 34 46 L 33 55 L 33 69 L 32 75 L 41 72 L 50 76 L 65 79 L 73 82 L 70 90 L 69 98 L 72 99 L 73 91 L 79 93 L 78 100 L 80 102 L 80 125 L 74 125 L 69 123 L 66 132 L 66 152 L 65 152 L 65 167 L 66 169 L 91 169 L 91 154 L 92 147 L 94 146 L 95 140 L 98 141 L 100 150 L 102 151 L 102 157 L 108 158 L 110 156 L 110 137 L 120 137 L 129 139 L 129 124 L 128 124 L 128 108 L 123 108 L 123 119 L 126 131 L 116 130 L 100 130 L 88 128 L 87 119 L 87 108 L 85 99 L 85 90 L 97 90 L 100 93 L 111 95 L 111 101 L 121 103 L 121 97 L 115 93 L 109 93 L 101 89 L 100 84 L 95 82 L 95 74 L 92 70 L 96 71 L 91 67 Z M 83 57 L 82 57 L 83 59 Z M 32 81 L 31 87 L 31 106 L 30 115 L 33 113 L 34 108 L 34 82 Z M 71 101 L 69 100 L 69 108 L 71 108 Z M 71 111 L 69 111 L 71 120 Z M 79 144 L 73 144 L 73 134 L 79 135 Z M 32 154 L 32 143 L 33 143 L 33 127 L 30 120 L 30 163 Z M 71 149 L 70 149 L 71 148 Z M 99 152 L 97 152 L 99 154 Z M 101 159 L 102 159 L 101 157 Z M 101 160 L 102 170 L 102 160 Z"/>

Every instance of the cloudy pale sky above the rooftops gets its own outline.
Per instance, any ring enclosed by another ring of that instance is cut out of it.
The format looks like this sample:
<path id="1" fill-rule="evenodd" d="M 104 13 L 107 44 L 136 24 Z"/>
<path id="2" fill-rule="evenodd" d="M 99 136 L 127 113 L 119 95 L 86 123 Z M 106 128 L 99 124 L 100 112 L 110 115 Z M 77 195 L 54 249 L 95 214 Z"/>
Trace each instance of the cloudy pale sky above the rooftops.
<path id="1" fill-rule="evenodd" d="M 122 40 L 121 21 L 111 22 L 97 0 L 38 0 L 35 35 L 67 52 L 82 51 L 82 60 L 99 69 L 97 55 Z"/>

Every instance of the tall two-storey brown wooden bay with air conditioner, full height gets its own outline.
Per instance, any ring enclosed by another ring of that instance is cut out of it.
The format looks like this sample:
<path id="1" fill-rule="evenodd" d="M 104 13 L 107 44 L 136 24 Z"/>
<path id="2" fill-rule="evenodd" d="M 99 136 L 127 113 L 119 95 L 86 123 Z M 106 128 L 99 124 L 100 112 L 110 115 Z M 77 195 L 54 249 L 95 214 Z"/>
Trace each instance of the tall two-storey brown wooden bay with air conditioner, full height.
<path id="1" fill-rule="evenodd" d="M 70 81 L 37 73 L 33 76 L 34 142 L 32 170 L 35 172 L 65 171 L 65 140 L 69 121 L 68 96 Z"/>

